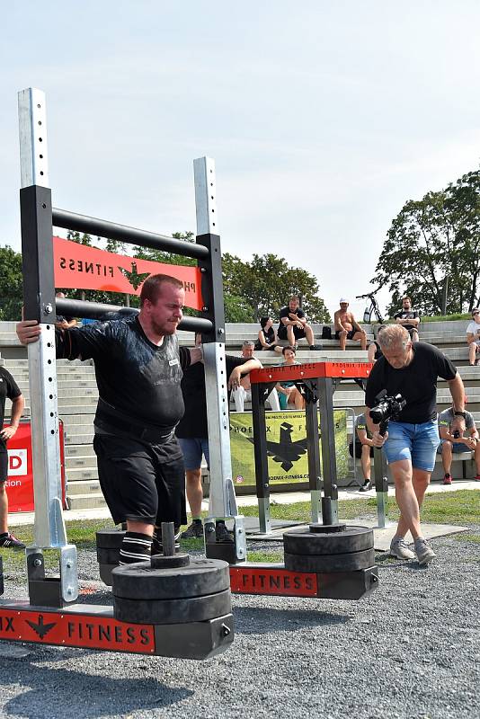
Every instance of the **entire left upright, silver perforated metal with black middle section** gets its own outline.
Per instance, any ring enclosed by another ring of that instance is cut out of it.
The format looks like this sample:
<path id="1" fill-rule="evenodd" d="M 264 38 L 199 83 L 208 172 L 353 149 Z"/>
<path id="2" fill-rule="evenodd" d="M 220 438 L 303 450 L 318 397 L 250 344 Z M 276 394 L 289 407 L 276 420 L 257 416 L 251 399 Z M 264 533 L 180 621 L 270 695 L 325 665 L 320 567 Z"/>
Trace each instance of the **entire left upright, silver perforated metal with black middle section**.
<path id="1" fill-rule="evenodd" d="M 61 503 L 52 209 L 44 93 L 35 88 L 22 90 L 18 110 L 24 316 L 36 319 L 41 326 L 39 342 L 28 345 L 35 545 L 27 548 L 27 567 L 29 580 L 32 576 L 41 580 L 41 549 L 58 548 L 60 600 L 69 602 L 78 595 L 78 580 L 76 546 L 67 545 Z M 33 555 L 36 559 L 29 562 Z"/>

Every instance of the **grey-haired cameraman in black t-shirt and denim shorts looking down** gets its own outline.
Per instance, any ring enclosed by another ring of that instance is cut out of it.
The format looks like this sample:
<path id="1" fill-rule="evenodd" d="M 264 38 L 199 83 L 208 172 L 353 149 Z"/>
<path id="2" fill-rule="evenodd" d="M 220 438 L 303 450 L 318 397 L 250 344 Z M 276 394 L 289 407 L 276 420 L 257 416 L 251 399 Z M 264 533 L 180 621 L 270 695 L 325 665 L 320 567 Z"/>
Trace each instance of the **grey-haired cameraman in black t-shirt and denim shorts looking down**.
<path id="1" fill-rule="evenodd" d="M 439 445 L 437 425 L 437 379 L 449 383 L 454 406 L 452 431 L 465 431 L 464 386 L 455 366 L 430 344 L 413 345 L 408 332 L 401 325 L 389 325 L 378 334 L 383 357 L 371 370 L 365 404 L 367 424 L 375 447 L 383 447 L 396 487 L 396 502 L 400 519 L 390 554 L 398 559 L 413 559 L 428 564 L 435 556 L 422 537 L 420 507 L 435 466 Z M 395 421 L 390 422 L 383 437 L 379 425 L 370 417 L 370 409 L 382 390 L 387 395 L 404 397 L 406 404 Z M 415 554 L 404 541 L 410 530 Z"/>

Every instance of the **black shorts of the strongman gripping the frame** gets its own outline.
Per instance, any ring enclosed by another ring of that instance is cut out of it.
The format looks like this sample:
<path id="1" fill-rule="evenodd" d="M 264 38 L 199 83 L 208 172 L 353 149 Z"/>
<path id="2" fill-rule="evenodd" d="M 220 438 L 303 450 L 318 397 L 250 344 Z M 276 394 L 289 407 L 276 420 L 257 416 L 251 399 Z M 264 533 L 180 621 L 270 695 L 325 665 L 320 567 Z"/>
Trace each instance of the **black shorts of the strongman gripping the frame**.
<path id="1" fill-rule="evenodd" d="M 131 521 L 160 526 L 187 523 L 182 450 L 173 437 L 150 445 L 138 439 L 95 434 L 100 486 L 115 524 Z"/>

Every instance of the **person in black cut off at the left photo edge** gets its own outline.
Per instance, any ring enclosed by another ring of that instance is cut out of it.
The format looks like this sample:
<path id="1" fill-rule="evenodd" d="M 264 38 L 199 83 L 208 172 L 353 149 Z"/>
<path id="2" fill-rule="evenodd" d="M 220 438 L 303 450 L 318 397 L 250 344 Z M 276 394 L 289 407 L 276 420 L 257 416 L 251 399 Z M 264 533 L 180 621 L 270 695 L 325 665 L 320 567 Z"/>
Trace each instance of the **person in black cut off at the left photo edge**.
<path id="1" fill-rule="evenodd" d="M 10 424 L 4 427 L 5 399 L 12 401 Z M 12 546 L 23 549 L 25 545 L 8 531 L 8 496 L 5 482 L 8 477 L 8 453 L 6 443 L 18 430 L 23 406 L 22 392 L 10 372 L 0 367 L 0 546 Z"/>

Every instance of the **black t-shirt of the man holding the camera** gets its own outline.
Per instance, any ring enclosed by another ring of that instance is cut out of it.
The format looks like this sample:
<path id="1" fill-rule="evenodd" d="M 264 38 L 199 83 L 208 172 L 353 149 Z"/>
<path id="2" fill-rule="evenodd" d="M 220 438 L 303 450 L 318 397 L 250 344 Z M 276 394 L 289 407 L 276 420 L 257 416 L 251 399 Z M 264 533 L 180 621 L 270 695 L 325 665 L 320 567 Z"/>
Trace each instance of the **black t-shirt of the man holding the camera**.
<path id="1" fill-rule="evenodd" d="M 371 370 L 365 404 L 374 407 L 375 397 L 382 389 L 387 395 L 400 394 L 406 406 L 400 413 L 399 422 L 419 424 L 437 416 L 437 379 L 453 379 L 457 368 L 436 347 L 423 342 L 413 342 L 412 362 L 403 369 L 394 369 L 385 357 L 380 357 Z"/>

